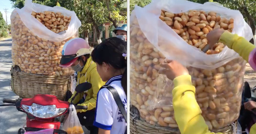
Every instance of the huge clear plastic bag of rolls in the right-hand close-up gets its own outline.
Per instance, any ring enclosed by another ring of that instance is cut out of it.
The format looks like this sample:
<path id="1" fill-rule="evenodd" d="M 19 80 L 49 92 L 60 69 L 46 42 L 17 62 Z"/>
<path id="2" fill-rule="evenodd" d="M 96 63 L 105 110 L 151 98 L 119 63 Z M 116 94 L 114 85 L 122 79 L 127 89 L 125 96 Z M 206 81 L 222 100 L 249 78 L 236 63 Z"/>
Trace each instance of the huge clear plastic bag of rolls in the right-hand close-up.
<path id="1" fill-rule="evenodd" d="M 250 40 L 252 30 L 239 11 L 218 3 L 153 0 L 136 6 L 130 23 L 131 104 L 152 125 L 177 128 L 172 107 L 173 83 L 158 74 L 165 58 L 186 66 L 196 100 L 209 129 L 239 117 L 246 62 L 222 43 L 205 54 L 206 34 L 221 28 Z"/>

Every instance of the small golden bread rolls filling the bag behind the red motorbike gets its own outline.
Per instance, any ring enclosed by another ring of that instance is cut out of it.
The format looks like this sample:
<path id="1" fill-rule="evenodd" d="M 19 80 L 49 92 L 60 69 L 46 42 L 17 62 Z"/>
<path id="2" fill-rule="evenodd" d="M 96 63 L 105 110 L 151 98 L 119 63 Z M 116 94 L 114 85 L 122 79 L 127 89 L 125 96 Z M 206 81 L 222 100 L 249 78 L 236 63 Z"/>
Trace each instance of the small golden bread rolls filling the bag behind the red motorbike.
<path id="1" fill-rule="evenodd" d="M 64 16 L 60 12 L 44 11 L 31 14 L 49 32 L 59 33 L 67 30 L 71 17 Z M 71 68 L 61 68 L 59 62 L 64 44 L 77 37 L 72 37 L 61 42 L 53 42 L 43 39 L 30 31 L 20 20 L 19 14 L 11 18 L 12 30 L 12 61 L 13 65 L 20 67 L 21 71 L 32 74 L 66 76 L 74 74 Z"/>

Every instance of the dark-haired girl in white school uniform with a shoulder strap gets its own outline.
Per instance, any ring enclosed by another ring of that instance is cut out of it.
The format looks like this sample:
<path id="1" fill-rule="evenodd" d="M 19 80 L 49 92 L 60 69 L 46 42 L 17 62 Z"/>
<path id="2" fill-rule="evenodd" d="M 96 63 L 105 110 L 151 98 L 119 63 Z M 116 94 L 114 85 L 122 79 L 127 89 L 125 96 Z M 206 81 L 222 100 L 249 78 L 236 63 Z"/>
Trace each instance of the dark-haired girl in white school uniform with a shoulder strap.
<path id="1" fill-rule="evenodd" d="M 99 134 L 124 134 L 127 123 L 122 109 L 127 115 L 127 45 L 117 37 L 111 37 L 100 43 L 92 52 L 97 71 L 103 81 L 97 96 L 96 117 L 93 125 L 99 127 Z M 120 98 L 119 109 L 109 86 Z"/>

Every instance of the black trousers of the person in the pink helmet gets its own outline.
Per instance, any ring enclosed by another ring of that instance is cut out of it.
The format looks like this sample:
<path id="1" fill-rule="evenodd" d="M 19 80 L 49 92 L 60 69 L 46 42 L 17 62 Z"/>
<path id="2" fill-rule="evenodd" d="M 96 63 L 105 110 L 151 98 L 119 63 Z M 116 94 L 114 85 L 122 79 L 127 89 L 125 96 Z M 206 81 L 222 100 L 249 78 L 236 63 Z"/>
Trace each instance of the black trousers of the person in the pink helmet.
<path id="1" fill-rule="evenodd" d="M 66 97 L 66 101 L 71 98 L 72 93 L 69 91 L 67 93 L 67 97 Z M 79 102 L 77 104 L 81 104 L 84 103 L 84 97 L 79 100 Z M 76 105 L 77 105 L 76 104 Z M 79 118 L 80 124 L 85 126 L 85 128 L 87 128 L 87 130 L 90 131 L 90 134 L 98 134 L 99 128 L 97 128 L 96 126 L 93 125 L 93 121 L 95 118 L 95 108 L 86 112 L 78 112 L 77 116 Z"/>

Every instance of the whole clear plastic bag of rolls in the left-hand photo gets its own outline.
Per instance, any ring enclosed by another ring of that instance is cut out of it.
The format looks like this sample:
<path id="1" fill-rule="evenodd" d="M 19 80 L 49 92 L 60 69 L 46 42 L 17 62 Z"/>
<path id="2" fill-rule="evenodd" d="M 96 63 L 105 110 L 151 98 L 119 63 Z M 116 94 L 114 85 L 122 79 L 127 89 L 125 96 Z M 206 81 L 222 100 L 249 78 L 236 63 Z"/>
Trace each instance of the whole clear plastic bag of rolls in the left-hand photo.
<path id="1" fill-rule="evenodd" d="M 11 14 L 12 63 L 32 74 L 66 76 L 71 68 L 61 68 L 64 44 L 78 37 L 81 22 L 74 11 L 48 7 L 26 0 Z"/>

